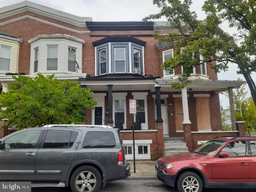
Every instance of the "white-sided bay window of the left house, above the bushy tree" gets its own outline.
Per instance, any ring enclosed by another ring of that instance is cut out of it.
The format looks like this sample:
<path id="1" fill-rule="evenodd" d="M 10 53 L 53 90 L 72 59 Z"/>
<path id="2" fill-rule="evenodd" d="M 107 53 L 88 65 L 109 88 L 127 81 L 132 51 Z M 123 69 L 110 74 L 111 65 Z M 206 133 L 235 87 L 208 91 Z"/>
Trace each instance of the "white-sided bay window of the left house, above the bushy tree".
<path id="1" fill-rule="evenodd" d="M 38 53 L 35 51 L 38 49 Z M 37 67 L 35 58 L 38 54 Z M 31 43 L 30 74 L 72 74 L 76 73 L 76 64 L 82 67 L 82 43 L 69 39 L 39 39 Z M 78 69 L 78 73 L 82 73 Z"/>

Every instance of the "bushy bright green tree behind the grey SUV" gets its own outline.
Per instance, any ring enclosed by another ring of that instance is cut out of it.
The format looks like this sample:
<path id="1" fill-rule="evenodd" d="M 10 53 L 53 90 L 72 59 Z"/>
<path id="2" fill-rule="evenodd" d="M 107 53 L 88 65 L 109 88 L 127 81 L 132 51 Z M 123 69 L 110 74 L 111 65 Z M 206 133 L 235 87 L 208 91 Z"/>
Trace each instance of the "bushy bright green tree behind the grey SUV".
<path id="1" fill-rule="evenodd" d="M 80 124 L 86 122 L 82 107 L 93 109 L 96 100 L 88 88 L 78 82 L 60 81 L 54 75 L 42 74 L 34 79 L 13 76 L 8 92 L 0 95 L 0 118 L 8 119 L 2 126 L 16 129 L 44 126 L 46 124 Z"/>

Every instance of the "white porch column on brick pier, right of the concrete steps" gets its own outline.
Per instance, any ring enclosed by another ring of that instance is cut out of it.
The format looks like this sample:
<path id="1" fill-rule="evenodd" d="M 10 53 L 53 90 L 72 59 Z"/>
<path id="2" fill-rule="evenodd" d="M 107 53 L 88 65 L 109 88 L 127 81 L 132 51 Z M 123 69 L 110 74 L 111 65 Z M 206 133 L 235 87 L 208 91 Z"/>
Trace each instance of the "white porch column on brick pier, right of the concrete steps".
<path id="1" fill-rule="evenodd" d="M 183 108 L 183 137 L 184 142 L 186 143 L 188 150 L 192 150 L 192 134 L 191 134 L 191 122 L 189 120 L 188 113 L 188 94 L 187 88 L 181 90 L 182 95 L 182 108 Z"/>

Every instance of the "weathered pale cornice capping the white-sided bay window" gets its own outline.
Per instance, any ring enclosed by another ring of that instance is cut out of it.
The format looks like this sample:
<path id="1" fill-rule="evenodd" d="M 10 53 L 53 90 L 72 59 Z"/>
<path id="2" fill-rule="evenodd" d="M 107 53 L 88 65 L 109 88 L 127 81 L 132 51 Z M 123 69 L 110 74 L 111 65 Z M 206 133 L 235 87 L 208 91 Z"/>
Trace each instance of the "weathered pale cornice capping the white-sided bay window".
<path id="1" fill-rule="evenodd" d="M 28 40 L 28 43 L 31 44 L 31 43 L 39 40 L 39 39 L 52 39 L 52 38 L 54 38 L 54 39 L 63 38 L 63 39 L 71 40 L 71 41 L 76 41 L 76 42 L 79 42 L 79 43 L 82 43 L 82 44 L 85 43 L 85 40 L 77 38 L 75 36 L 67 35 L 67 34 L 38 35 L 38 36 Z"/>

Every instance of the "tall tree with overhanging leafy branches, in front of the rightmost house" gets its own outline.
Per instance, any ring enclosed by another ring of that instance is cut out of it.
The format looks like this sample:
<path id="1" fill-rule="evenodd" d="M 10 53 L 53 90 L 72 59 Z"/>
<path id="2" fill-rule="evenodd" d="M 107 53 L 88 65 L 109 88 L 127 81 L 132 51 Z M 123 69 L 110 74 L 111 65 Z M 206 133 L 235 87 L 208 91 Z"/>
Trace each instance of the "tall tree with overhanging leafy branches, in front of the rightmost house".
<path id="1" fill-rule="evenodd" d="M 174 42 L 176 46 L 176 56 L 166 60 L 162 68 L 172 71 L 184 66 L 187 69 L 180 76 L 180 82 L 172 84 L 173 88 L 187 86 L 190 69 L 196 65 L 207 63 L 220 72 L 228 70 L 228 63 L 237 64 L 237 73 L 244 76 L 256 105 L 256 86 L 251 77 L 256 71 L 255 0 L 206 0 L 202 7 L 206 13 L 204 20 L 190 11 L 192 0 L 153 0 L 153 4 L 161 11 L 143 20 L 165 16 L 171 28 L 178 30 L 178 33 L 169 35 L 154 35 L 156 39 Z M 230 27 L 238 29 L 238 34 L 230 35 L 222 30 L 220 26 L 225 20 L 228 20 Z M 182 52 L 180 47 L 185 47 Z"/>

